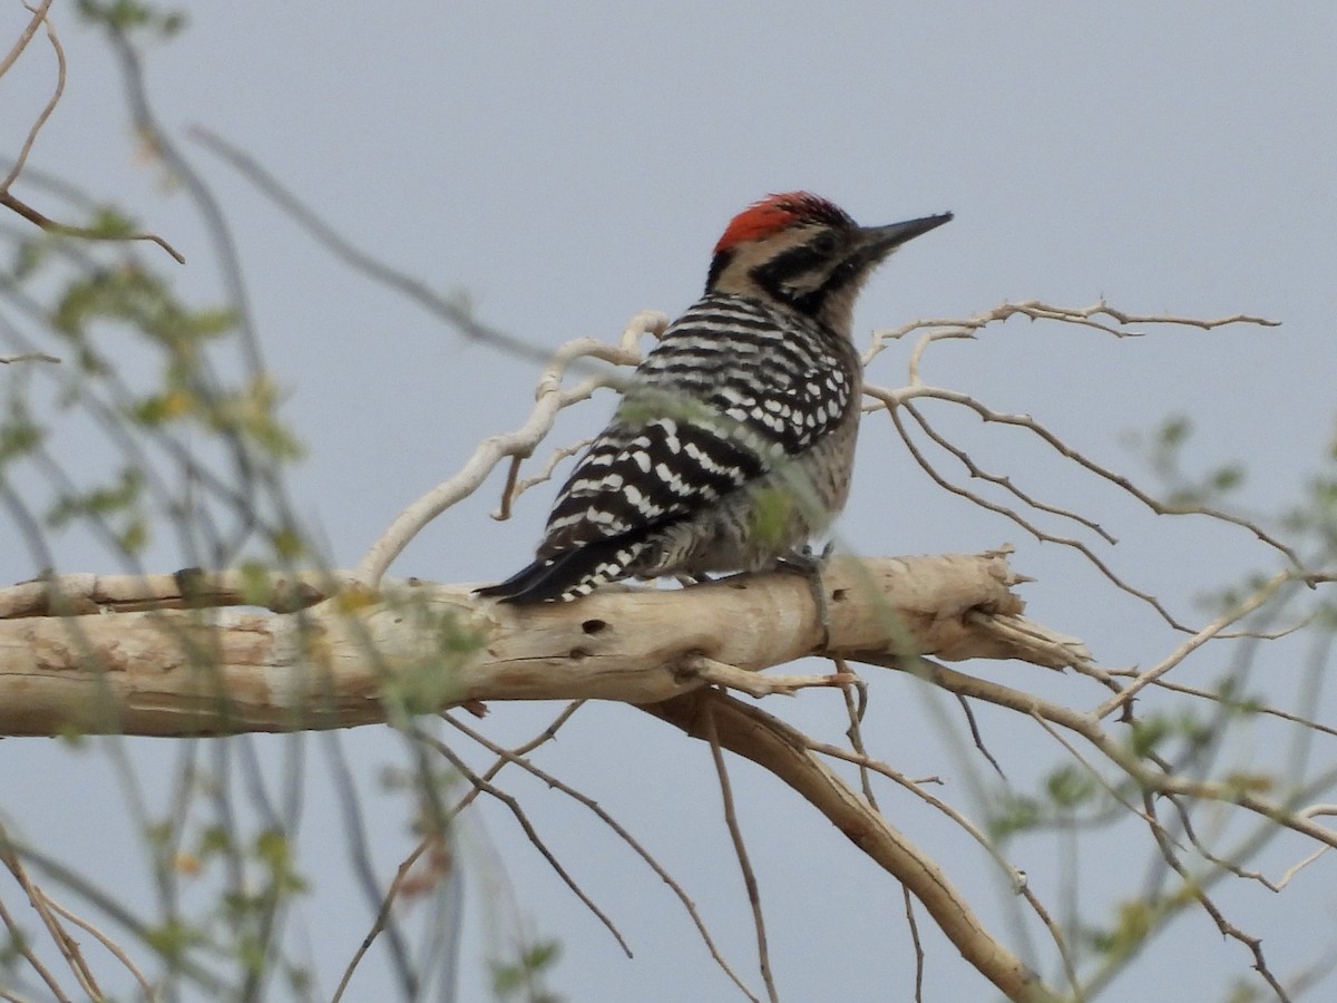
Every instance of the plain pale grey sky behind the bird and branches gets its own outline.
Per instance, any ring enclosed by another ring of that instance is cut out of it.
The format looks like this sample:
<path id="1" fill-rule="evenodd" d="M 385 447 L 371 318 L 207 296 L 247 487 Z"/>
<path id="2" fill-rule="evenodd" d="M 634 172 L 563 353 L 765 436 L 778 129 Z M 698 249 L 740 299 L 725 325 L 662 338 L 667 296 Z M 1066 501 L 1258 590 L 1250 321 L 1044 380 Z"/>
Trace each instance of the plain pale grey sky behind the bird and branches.
<path id="1" fill-rule="evenodd" d="M 956 221 L 916 241 L 873 280 L 857 312 L 866 336 L 916 317 L 968 316 L 1004 300 L 1086 306 L 1100 297 L 1134 313 L 1284 321 L 1274 329 L 1167 329 L 1116 341 L 1096 332 L 1012 321 L 977 342 L 929 356 L 925 377 L 999 411 L 1034 415 L 1096 460 L 1132 475 L 1146 465 L 1127 433 L 1191 415 L 1197 469 L 1249 464 L 1237 499 L 1271 514 L 1296 496 L 1333 432 L 1332 285 L 1337 275 L 1337 8 L 1330 4 L 619 4 L 294 1 L 207 5 L 178 40 L 148 53 L 148 84 L 174 130 L 205 124 L 246 148 L 368 251 L 445 292 L 477 316 L 551 348 L 612 338 L 640 309 L 670 314 L 701 292 L 710 247 L 729 218 L 771 191 L 810 189 L 860 222 L 951 209 Z M 217 298 L 199 222 L 159 171 L 135 155 L 114 66 L 66 4 L 66 96 L 33 152 L 36 167 L 79 181 L 136 213 L 189 258 L 180 288 Z M 3 37 L 25 20 L 0 16 Z M 49 87 L 35 44 L 0 84 L 4 148 Z M 187 152 L 227 209 L 241 246 L 263 349 L 289 391 L 285 415 L 309 448 L 293 492 L 352 566 L 410 500 L 452 473 L 484 435 L 517 425 L 536 366 L 464 344 L 414 306 L 336 266 L 271 205 L 198 146 Z M 20 186 L 20 194 L 24 194 Z M 32 201 L 40 206 L 36 194 Z M 900 384 L 909 345 L 869 378 Z M 560 441 L 607 417 L 603 395 L 559 425 Z M 1154 519 L 1116 491 L 1075 475 L 1016 435 L 941 409 L 943 429 L 995 472 L 1080 510 L 1120 538 L 1111 566 L 1185 617 L 1194 596 L 1270 570 L 1246 532 L 1201 519 Z M 72 456 L 75 460 L 75 456 Z M 949 460 L 944 469 L 953 469 Z M 955 472 L 955 471 L 953 471 Z M 1151 483 L 1150 477 L 1146 477 Z M 393 574 L 495 580 L 531 554 L 551 491 L 493 523 L 500 483 L 448 512 Z M 861 441 L 846 546 L 870 554 L 1017 546 L 1013 566 L 1038 579 L 1032 617 L 1088 642 L 1103 665 L 1148 665 L 1174 647 L 1150 611 L 1115 594 L 1071 554 L 1039 546 L 997 518 L 945 496 L 876 417 Z M 170 546 L 155 551 L 172 570 Z M 63 570 L 106 570 L 72 540 Z M 5 579 L 31 574 L 0 532 Z M 1185 679 L 1215 678 L 1227 649 Z M 1296 667 L 1267 658 L 1266 691 L 1286 694 Z M 1025 666 L 969 666 L 1059 697 L 1090 691 Z M 944 796 L 971 808 L 957 764 L 935 734 L 910 681 L 868 670 L 874 754 L 909 776 L 939 774 Z M 1273 678 L 1275 677 L 1275 678 Z M 1255 677 L 1257 681 L 1257 677 Z M 1271 687 L 1277 689 L 1273 690 Z M 1064 689 L 1068 687 L 1068 689 Z M 955 705 L 953 705 L 955 706 Z M 959 714 L 951 714 L 963 733 Z M 830 694 L 766 703 L 838 741 Z M 492 709 L 485 726 L 521 737 L 552 709 Z M 753 932 L 727 844 L 709 750 L 622 706 L 588 707 L 540 757 L 612 810 L 687 887 L 730 962 L 753 975 Z M 1328 718 L 1332 719 L 1332 707 Z M 991 750 L 1021 790 L 1063 761 L 1027 721 L 980 711 Z M 1271 738 L 1233 750 L 1247 764 Z M 370 911 L 348 888 L 322 740 L 308 740 L 305 832 L 316 900 L 305 924 L 324 962 L 361 939 Z M 384 729 L 340 737 L 373 804 L 369 825 L 385 875 L 409 845 L 408 802 L 377 798 L 381 768 L 404 761 Z M 144 782 L 179 749 L 130 744 Z M 255 749 L 274 764 L 289 740 Z M 207 756 L 209 753 L 206 753 Z M 1316 749 L 1332 758 L 1330 741 Z M 0 810 L 66 859 L 136 895 L 138 857 L 100 753 L 53 744 L 0 746 Z M 972 764 L 979 768 L 979 761 Z M 771 959 L 786 1000 L 909 998 L 912 955 L 898 888 L 773 778 L 733 768 L 739 813 L 767 911 Z M 461 999 L 479 988 L 488 873 L 504 864 L 533 929 L 560 937 L 552 979 L 570 999 L 730 999 L 730 987 L 678 907 L 632 855 L 583 809 L 512 777 L 550 845 L 623 929 L 627 962 L 550 873 L 509 817 L 491 808 L 465 839 L 468 909 Z M 382 804 L 384 802 L 384 804 Z M 910 798 L 886 792 L 894 824 L 939 855 L 971 891 L 987 925 L 1017 950 L 1052 951 L 1034 924 L 1021 936 L 1009 896 L 977 848 Z M 1234 830 L 1230 830 L 1234 832 Z M 118 833 L 107 840 L 104 833 Z M 90 837 L 99 839 L 88 843 Z M 112 845 L 107 845 L 107 843 Z M 1271 873 L 1308 852 L 1282 841 Z M 96 847 L 96 853 L 91 847 Z M 1051 901 L 1063 879 L 1054 836 L 1013 847 Z M 1110 915 L 1152 864 L 1144 829 L 1083 848 L 1083 908 Z M 107 872 L 99 860 L 107 860 Z M 1330 955 L 1337 940 L 1333 864 L 1321 861 L 1281 896 L 1222 889 L 1229 917 L 1265 937 L 1280 975 Z M 123 873 L 122 873 L 123 871 Z M 1094 875 L 1094 876 L 1092 876 Z M 983 982 L 920 916 L 927 999 L 988 998 Z M 318 962 L 318 964 L 320 964 Z M 1104 998 L 1144 999 L 1147 986 L 1185 1000 L 1218 999 L 1250 958 L 1190 912 Z M 473 972 L 473 975 L 471 975 Z M 360 999 L 386 968 L 366 963 Z"/>

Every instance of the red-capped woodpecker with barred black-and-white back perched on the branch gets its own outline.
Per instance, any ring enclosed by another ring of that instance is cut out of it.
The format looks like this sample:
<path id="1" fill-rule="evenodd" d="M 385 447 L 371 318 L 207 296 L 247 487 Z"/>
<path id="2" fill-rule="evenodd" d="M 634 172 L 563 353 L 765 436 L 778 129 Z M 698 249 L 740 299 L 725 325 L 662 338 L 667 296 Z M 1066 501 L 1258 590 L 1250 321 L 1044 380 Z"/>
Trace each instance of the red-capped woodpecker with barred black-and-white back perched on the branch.
<path id="1" fill-rule="evenodd" d="M 893 250 L 951 218 L 865 227 L 806 191 L 734 217 L 705 296 L 636 368 L 533 563 L 479 594 L 571 600 L 624 578 L 757 571 L 808 552 L 849 495 L 854 298 Z"/>

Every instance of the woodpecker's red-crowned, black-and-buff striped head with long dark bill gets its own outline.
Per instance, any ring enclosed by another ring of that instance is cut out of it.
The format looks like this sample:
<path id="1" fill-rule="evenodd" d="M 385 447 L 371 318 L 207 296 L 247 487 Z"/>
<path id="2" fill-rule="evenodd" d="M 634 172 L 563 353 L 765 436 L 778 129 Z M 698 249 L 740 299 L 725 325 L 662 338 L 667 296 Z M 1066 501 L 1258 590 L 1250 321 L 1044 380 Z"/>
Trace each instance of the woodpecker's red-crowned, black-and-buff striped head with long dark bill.
<path id="1" fill-rule="evenodd" d="M 854 297 L 900 245 L 951 213 L 890 226 L 860 226 L 808 191 L 769 195 L 733 218 L 715 245 L 706 290 L 774 300 L 849 334 Z"/>

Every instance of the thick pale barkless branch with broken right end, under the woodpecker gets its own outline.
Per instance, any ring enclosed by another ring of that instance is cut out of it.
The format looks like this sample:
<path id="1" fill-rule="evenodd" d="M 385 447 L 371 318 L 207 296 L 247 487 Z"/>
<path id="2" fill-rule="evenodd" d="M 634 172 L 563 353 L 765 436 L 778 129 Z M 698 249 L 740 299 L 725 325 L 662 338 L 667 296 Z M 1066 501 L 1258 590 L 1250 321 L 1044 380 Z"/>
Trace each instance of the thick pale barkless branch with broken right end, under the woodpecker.
<path id="1" fill-rule="evenodd" d="M 180 578 L 140 579 L 163 595 L 140 595 L 135 612 L 104 612 L 116 606 L 91 598 L 103 594 L 92 579 L 45 600 L 47 614 L 67 615 L 0 619 L 0 734 L 348 728 L 385 721 L 388 705 L 432 711 L 488 699 L 648 703 L 706 685 L 702 658 L 759 671 L 813 654 L 821 639 L 809 583 L 787 572 L 536 607 L 410 582 L 279 614 L 201 608 L 237 592 L 191 576 L 185 602 L 168 584 Z M 840 558 L 822 578 L 828 654 L 1082 661 L 1080 646 L 1021 619 L 1003 554 Z M 119 595 L 119 608 L 131 602 Z M 160 608 L 144 608 L 152 604 Z"/>

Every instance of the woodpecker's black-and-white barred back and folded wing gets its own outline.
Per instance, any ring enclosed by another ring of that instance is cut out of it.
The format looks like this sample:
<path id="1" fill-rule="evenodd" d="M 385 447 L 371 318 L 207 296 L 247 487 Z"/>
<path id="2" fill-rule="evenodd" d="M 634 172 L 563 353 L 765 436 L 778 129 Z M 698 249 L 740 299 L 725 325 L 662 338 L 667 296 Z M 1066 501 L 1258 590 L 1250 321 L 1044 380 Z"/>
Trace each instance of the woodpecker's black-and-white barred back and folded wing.
<path id="1" fill-rule="evenodd" d="M 689 518 L 836 427 L 845 360 L 758 313 L 707 300 L 664 333 L 558 495 L 540 559 Z M 714 330 L 726 322 L 729 341 Z"/>

